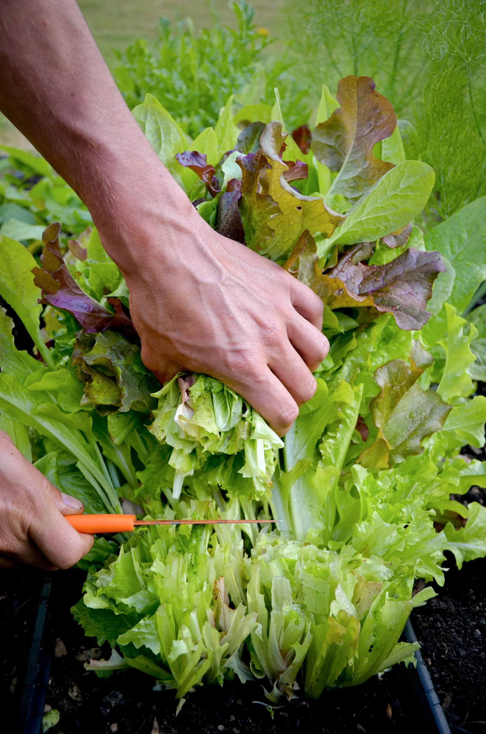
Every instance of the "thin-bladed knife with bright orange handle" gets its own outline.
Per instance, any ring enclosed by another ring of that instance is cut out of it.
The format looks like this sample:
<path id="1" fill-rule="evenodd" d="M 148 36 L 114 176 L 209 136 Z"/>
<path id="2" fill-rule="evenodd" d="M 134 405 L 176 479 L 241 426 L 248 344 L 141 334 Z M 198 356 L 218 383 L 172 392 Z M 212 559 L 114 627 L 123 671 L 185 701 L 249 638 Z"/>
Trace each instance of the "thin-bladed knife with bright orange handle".
<path id="1" fill-rule="evenodd" d="M 65 515 L 79 533 L 126 533 L 140 525 L 244 525 L 279 520 L 137 520 L 137 515 Z"/>

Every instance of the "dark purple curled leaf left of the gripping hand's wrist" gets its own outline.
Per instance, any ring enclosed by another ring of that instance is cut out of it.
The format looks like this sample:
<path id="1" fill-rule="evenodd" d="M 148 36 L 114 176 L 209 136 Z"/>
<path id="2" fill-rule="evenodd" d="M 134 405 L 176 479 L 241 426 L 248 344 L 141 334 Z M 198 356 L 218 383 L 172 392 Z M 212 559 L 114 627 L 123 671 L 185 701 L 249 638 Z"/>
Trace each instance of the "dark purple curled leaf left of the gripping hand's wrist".
<path id="1" fill-rule="evenodd" d="M 43 233 L 43 251 L 40 255 L 42 269 L 33 268 L 34 283 L 42 289 L 40 303 L 48 304 L 72 313 L 88 334 L 115 329 L 134 334 L 134 326 L 123 312 L 120 299 L 110 298 L 115 308 L 112 313 L 94 298 L 88 296 L 70 275 L 59 249 L 59 223 L 49 225 Z"/>

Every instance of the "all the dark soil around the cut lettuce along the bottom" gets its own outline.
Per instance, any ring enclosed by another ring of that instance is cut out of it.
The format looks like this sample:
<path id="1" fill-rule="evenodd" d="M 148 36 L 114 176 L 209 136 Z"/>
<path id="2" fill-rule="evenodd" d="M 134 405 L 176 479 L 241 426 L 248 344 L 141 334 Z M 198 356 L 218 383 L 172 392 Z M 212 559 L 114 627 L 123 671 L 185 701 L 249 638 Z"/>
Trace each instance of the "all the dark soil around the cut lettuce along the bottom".
<path id="1" fill-rule="evenodd" d="M 485 498 L 483 492 L 479 501 Z M 451 569 L 446 587 L 438 589 L 438 597 L 411 617 L 424 661 L 453 732 L 474 733 L 484 725 L 486 694 L 477 685 L 486 677 L 484 573 L 483 559 L 466 564 L 460 573 Z M 43 577 L 25 570 L 15 575 L 2 572 L 0 578 L 0 625 L 4 639 L 0 667 L 2 698 L 10 699 L 10 711 L 17 711 L 22 693 L 18 681 L 22 681 L 29 655 Z M 60 713 L 59 724 L 51 729 L 53 734 L 89 729 L 108 734 L 115 731 L 182 734 L 196 728 L 202 733 L 244 734 L 278 732 L 282 726 L 326 734 L 341 734 L 344 730 L 410 732 L 411 727 L 418 722 L 426 723 L 430 716 L 417 688 L 416 675 L 400 665 L 358 688 L 324 692 L 317 702 L 297 699 L 285 708 L 275 709 L 273 719 L 264 705 L 255 703 L 265 702 L 259 683 L 241 686 L 226 682 L 223 688 L 217 685 L 200 688 L 188 697 L 175 718 L 177 702 L 173 694 L 152 691 L 150 677 L 128 672 L 100 679 L 84 670 L 83 660 L 101 653 L 95 639 L 84 637 L 69 613 L 70 605 L 79 598 L 83 580 L 84 574 L 78 570 L 54 576 L 51 627 L 56 630 L 59 642 L 46 695 L 46 706 Z M 108 650 L 102 648 L 101 652 L 106 656 Z"/>

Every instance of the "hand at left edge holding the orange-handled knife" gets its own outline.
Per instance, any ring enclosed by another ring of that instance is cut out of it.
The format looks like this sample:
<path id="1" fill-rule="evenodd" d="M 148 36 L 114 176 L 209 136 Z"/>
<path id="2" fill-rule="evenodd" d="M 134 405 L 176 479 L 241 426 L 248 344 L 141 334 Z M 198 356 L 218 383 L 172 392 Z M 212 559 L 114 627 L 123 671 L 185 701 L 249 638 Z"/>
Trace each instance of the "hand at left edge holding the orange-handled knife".
<path id="1" fill-rule="evenodd" d="M 79 515 L 79 500 L 59 492 L 0 431 L 0 568 L 26 563 L 46 571 L 69 568 L 90 551 L 63 515 Z"/>

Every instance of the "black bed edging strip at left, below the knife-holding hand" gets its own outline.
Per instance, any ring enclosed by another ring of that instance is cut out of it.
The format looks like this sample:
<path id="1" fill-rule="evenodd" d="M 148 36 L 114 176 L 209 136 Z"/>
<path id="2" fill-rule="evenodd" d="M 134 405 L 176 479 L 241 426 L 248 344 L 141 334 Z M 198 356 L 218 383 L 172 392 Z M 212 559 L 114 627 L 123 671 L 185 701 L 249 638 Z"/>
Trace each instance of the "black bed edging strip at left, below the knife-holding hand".
<path id="1" fill-rule="evenodd" d="M 46 702 L 55 640 L 49 609 L 51 591 L 52 576 L 46 574 L 40 583 L 32 642 L 22 680 L 18 718 L 20 734 L 39 734 L 42 730 L 44 703 Z"/>

